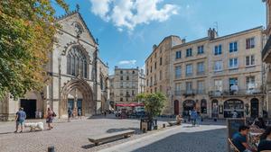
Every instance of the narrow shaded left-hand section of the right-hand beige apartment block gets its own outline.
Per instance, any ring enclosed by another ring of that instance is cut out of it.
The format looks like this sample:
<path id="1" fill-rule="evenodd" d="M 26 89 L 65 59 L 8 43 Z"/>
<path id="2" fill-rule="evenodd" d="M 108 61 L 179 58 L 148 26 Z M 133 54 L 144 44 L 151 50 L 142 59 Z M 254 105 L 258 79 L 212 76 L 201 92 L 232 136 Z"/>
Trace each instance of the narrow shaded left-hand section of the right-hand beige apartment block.
<path id="1" fill-rule="evenodd" d="M 168 36 L 156 46 L 153 46 L 151 55 L 145 60 L 145 92 L 161 92 L 166 95 L 167 103 L 164 108 L 164 114 L 172 112 L 173 94 L 171 94 L 170 76 L 173 71 L 171 65 L 171 49 L 174 45 L 182 43 L 178 36 Z"/>

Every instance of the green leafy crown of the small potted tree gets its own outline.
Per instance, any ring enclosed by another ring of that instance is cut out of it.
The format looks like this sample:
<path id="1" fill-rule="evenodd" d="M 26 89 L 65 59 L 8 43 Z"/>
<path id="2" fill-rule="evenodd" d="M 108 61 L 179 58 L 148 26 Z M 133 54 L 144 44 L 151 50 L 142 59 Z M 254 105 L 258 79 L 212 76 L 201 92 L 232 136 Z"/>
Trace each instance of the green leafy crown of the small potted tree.
<path id="1" fill-rule="evenodd" d="M 166 101 L 166 97 L 162 93 L 138 94 L 136 98 L 144 103 L 145 112 L 150 120 L 162 112 Z"/>

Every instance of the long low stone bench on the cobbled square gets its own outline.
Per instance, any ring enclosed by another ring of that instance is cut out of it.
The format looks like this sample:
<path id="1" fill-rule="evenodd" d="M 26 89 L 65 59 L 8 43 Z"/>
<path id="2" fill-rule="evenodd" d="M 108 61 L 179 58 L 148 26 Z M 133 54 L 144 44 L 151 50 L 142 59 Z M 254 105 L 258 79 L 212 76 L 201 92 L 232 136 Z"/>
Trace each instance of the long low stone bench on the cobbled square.
<path id="1" fill-rule="evenodd" d="M 135 130 L 124 130 L 118 131 L 114 133 L 107 133 L 103 135 L 98 135 L 92 138 L 89 138 L 89 141 L 94 143 L 95 146 L 98 146 L 99 143 L 108 141 L 110 139 L 118 139 L 118 138 L 128 138 L 132 134 L 135 134 Z"/>

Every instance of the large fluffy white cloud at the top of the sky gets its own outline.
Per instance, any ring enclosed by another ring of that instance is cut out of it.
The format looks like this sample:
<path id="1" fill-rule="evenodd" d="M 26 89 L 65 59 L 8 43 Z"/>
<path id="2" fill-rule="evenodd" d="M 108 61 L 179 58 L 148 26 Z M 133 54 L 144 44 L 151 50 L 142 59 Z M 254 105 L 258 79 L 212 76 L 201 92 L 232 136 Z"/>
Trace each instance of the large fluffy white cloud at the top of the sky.
<path id="1" fill-rule="evenodd" d="M 133 31 L 138 24 L 153 21 L 164 22 L 178 13 L 175 4 L 164 4 L 163 0 L 89 0 L 91 12 L 107 22 L 113 22 L 118 31 L 127 28 Z"/>

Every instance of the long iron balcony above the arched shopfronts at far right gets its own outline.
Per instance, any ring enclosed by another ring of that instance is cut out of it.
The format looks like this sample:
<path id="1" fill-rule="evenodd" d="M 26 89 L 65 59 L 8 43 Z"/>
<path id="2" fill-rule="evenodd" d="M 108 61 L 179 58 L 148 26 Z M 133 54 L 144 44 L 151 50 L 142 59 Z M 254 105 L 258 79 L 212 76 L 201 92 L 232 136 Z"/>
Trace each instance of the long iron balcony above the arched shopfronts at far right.
<path id="1" fill-rule="evenodd" d="M 253 89 L 242 89 L 242 90 L 236 90 L 236 91 L 210 91 L 209 96 L 210 97 L 227 97 L 227 96 L 248 96 L 248 95 L 259 95 L 263 94 L 262 89 L 259 88 L 253 88 Z"/>

